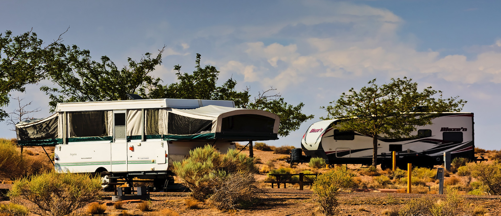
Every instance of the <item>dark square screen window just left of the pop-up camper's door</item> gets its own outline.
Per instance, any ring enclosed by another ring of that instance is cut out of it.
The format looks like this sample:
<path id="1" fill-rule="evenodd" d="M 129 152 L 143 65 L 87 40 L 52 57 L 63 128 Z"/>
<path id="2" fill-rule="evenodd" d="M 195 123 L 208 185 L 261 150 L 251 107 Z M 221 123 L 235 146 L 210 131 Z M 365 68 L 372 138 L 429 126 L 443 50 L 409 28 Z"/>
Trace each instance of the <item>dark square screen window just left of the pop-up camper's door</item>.
<path id="1" fill-rule="evenodd" d="M 106 111 L 70 112 L 70 136 L 107 136 Z"/>

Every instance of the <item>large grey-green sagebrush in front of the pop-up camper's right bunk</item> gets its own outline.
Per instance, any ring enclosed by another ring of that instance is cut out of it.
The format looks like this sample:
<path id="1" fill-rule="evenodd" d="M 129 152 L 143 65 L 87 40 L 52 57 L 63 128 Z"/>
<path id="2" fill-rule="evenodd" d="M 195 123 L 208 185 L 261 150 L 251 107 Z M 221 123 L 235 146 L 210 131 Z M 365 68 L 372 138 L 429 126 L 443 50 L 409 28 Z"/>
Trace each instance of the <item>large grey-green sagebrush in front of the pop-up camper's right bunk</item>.
<path id="1" fill-rule="evenodd" d="M 221 186 L 220 181 L 232 173 L 259 171 L 253 158 L 238 153 L 236 149 L 221 154 L 214 147 L 205 145 L 189 153 L 190 157 L 174 162 L 174 172 L 198 200 L 208 198 Z"/>

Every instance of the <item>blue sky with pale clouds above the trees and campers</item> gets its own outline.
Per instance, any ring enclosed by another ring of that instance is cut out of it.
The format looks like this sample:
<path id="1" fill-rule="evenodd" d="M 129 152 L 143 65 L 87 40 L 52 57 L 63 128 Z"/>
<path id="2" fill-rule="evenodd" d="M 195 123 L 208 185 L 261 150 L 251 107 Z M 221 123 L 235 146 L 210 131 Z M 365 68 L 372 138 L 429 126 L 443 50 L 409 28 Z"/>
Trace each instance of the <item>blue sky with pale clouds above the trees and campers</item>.
<path id="1" fill-rule="evenodd" d="M 319 107 L 351 87 L 407 76 L 468 100 L 463 110 L 475 113 L 476 146 L 499 149 L 500 8 L 501 1 L 483 0 L 0 1 L 0 30 L 33 27 L 50 42 L 69 26 L 65 44 L 117 65 L 165 44 L 152 73 L 164 83 L 175 80 L 173 65 L 191 72 L 200 53 L 221 82 L 233 77 L 253 94 L 273 86 L 315 114 L 274 145 L 300 146 L 307 127 L 326 116 Z M 49 98 L 39 87 L 12 95 L 46 117 Z M 0 123 L 0 137 L 15 137 L 9 128 Z"/>

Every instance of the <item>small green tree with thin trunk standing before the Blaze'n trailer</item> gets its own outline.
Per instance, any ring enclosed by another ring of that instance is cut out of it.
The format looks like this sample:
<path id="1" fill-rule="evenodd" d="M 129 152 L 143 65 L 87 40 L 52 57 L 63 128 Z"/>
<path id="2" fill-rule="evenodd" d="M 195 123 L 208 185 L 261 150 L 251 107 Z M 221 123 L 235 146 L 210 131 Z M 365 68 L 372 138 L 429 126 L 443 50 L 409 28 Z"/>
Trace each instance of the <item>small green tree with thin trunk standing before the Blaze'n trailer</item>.
<path id="1" fill-rule="evenodd" d="M 458 99 L 459 96 L 443 98 L 442 91 L 431 86 L 418 91 L 418 83 L 407 77 L 391 78 L 390 83 L 382 85 L 373 79 L 368 84 L 359 91 L 351 88 L 332 101 L 332 105 L 321 108 L 328 113 L 322 119 L 349 119 L 337 125 L 340 130 L 358 131 L 372 137 L 373 166 L 378 164 L 377 139 L 380 135 L 410 137 L 416 126 L 430 124 L 441 112 L 460 111 L 466 103 Z"/>

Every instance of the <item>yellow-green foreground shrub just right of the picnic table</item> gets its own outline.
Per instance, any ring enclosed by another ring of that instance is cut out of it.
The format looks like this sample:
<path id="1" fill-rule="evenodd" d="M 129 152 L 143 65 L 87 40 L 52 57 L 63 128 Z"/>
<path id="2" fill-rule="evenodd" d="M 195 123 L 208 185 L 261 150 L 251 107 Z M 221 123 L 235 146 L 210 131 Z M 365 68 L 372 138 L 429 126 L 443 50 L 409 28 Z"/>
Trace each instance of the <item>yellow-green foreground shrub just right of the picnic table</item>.
<path id="1" fill-rule="evenodd" d="M 338 212 L 337 194 L 341 188 L 353 186 L 353 174 L 346 167 L 336 167 L 317 177 L 312 184 L 312 190 L 318 195 L 317 201 L 320 209 L 326 215 L 334 215 Z"/>

